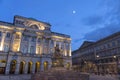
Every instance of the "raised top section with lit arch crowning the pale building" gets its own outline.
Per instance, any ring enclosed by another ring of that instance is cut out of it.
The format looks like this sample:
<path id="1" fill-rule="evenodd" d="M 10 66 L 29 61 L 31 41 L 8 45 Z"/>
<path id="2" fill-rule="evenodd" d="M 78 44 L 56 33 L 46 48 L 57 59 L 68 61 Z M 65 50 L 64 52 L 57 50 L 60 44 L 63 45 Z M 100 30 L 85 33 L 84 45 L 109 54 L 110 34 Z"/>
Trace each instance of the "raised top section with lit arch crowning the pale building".
<path id="1" fill-rule="evenodd" d="M 36 30 L 50 30 L 50 24 L 45 22 L 40 22 L 32 18 L 25 18 L 21 16 L 14 17 L 14 25 L 25 28 L 32 28 Z"/>

